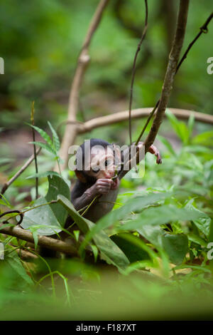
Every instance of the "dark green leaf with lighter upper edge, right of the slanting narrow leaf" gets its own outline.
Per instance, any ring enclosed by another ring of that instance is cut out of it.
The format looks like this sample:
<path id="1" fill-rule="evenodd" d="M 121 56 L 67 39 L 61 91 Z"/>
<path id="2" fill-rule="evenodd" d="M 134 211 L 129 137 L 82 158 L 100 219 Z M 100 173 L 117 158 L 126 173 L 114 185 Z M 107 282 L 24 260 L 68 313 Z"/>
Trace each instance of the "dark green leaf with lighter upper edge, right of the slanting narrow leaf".
<path id="1" fill-rule="evenodd" d="M 131 263 L 151 258 L 147 252 L 148 246 L 133 234 L 121 232 L 112 235 L 110 238 L 126 254 Z"/>

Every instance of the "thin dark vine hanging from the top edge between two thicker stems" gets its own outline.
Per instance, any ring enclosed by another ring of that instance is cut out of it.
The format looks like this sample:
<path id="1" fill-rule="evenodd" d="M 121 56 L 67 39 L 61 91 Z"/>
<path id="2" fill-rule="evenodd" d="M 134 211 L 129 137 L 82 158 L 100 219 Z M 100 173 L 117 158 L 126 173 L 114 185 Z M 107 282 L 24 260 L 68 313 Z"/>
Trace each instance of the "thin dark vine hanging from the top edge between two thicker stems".
<path id="1" fill-rule="evenodd" d="M 134 85 L 134 80 L 135 80 L 135 76 L 136 76 L 136 61 L 137 61 L 138 53 L 141 50 L 141 45 L 142 45 L 143 40 L 146 36 L 146 31 L 147 31 L 147 27 L 148 27 L 148 4 L 147 4 L 147 0 L 144 0 L 144 1 L 145 1 L 145 6 L 146 6 L 145 26 L 143 28 L 141 40 L 138 43 L 138 48 L 136 50 L 136 54 L 135 54 L 135 57 L 134 57 L 134 60 L 133 60 L 133 68 L 132 68 L 132 74 L 131 74 L 131 87 L 130 87 L 130 98 L 129 98 L 129 140 L 130 140 L 130 145 L 132 143 L 132 138 L 131 138 L 131 105 L 132 105 L 132 98 L 133 98 L 133 85 Z"/>

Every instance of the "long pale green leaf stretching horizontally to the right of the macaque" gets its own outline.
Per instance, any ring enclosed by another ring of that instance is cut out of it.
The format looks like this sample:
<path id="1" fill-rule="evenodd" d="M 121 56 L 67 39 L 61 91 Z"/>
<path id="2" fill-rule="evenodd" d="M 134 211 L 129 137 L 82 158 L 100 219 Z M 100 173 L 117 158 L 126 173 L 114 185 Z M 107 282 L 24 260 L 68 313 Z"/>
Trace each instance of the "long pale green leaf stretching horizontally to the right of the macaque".
<path id="1" fill-rule="evenodd" d="M 119 230 L 140 230 L 143 225 L 163 225 L 173 221 L 198 220 L 207 217 L 204 213 L 197 210 L 178 208 L 174 205 L 162 205 L 160 207 L 149 207 L 138 215 L 136 220 L 127 222 Z"/>

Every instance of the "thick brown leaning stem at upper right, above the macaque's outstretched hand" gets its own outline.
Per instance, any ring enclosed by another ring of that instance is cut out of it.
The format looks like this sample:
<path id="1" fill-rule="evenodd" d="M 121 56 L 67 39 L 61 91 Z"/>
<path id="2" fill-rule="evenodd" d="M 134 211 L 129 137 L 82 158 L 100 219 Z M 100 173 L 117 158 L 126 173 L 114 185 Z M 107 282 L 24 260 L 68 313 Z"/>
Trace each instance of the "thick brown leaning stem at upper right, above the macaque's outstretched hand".
<path id="1" fill-rule="evenodd" d="M 160 124 L 163 121 L 165 108 L 168 105 L 168 100 L 173 88 L 173 81 L 178 66 L 178 58 L 180 57 L 180 51 L 182 48 L 182 43 L 184 41 L 185 28 L 187 24 L 188 6 L 189 6 L 189 0 L 180 0 L 178 23 L 176 27 L 175 38 L 173 41 L 172 49 L 170 51 L 168 66 L 165 73 L 158 109 L 155 113 L 155 118 L 153 120 L 151 130 L 148 133 L 146 140 L 144 141 L 145 152 L 148 151 L 148 148 L 153 144 L 155 140 L 155 137 L 158 133 L 158 129 L 160 128 Z"/>

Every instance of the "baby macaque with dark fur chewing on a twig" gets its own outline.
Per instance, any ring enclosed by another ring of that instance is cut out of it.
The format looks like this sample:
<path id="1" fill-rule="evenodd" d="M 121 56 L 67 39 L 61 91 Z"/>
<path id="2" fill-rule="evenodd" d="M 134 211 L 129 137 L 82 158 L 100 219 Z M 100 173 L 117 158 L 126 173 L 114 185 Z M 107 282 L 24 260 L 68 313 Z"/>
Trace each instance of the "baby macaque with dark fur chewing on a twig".
<path id="1" fill-rule="evenodd" d="M 142 147 L 143 143 L 138 143 L 138 150 Z M 156 163 L 162 162 L 154 145 L 148 151 L 156 156 Z M 120 178 L 117 171 L 129 157 L 128 147 L 120 152 L 115 145 L 97 138 L 84 141 L 80 145 L 76 153 L 77 182 L 71 192 L 71 202 L 76 210 L 80 210 L 96 198 L 84 217 L 97 222 L 111 211 L 119 192 Z"/>

